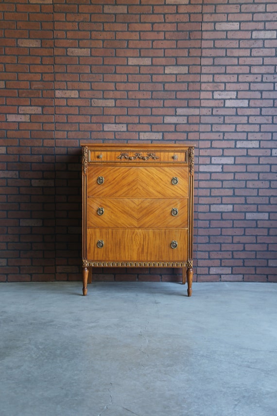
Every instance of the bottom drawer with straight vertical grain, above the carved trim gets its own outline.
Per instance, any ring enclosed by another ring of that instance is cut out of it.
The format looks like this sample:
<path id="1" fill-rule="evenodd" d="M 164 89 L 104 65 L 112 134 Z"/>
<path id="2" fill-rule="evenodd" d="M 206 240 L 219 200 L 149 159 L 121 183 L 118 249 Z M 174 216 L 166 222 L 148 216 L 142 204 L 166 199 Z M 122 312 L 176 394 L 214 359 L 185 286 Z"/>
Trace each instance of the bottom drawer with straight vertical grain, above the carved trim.
<path id="1" fill-rule="evenodd" d="M 87 229 L 89 261 L 185 261 L 187 253 L 187 229 Z"/>

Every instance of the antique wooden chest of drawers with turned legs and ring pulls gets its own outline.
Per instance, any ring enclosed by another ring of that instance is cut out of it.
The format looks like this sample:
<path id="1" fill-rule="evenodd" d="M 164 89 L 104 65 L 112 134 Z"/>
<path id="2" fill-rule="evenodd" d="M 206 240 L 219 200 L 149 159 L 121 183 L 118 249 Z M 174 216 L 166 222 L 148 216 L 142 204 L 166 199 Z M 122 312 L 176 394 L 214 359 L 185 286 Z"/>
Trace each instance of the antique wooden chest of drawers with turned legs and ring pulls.
<path id="1" fill-rule="evenodd" d="M 82 144 L 88 268 L 182 268 L 192 285 L 194 147 Z"/>

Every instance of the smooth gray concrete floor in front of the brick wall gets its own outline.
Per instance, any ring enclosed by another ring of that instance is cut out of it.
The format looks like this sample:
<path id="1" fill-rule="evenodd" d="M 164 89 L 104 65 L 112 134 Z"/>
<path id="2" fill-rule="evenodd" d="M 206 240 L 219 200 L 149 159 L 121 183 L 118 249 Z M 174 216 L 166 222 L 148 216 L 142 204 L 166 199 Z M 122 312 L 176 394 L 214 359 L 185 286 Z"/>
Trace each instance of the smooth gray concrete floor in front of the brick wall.
<path id="1" fill-rule="evenodd" d="M 1 416 L 276 416 L 277 285 L 0 284 Z"/>

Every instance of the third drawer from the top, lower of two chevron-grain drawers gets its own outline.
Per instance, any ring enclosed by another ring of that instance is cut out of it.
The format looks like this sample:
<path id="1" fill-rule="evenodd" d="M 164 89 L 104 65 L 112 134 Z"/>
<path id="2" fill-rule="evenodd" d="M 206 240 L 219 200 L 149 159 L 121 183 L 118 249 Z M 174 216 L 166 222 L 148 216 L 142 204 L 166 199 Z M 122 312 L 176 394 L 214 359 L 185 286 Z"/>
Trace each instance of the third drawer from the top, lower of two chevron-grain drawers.
<path id="1" fill-rule="evenodd" d="M 188 228 L 188 199 L 88 198 L 87 226 Z"/>

